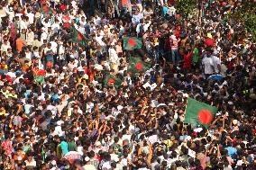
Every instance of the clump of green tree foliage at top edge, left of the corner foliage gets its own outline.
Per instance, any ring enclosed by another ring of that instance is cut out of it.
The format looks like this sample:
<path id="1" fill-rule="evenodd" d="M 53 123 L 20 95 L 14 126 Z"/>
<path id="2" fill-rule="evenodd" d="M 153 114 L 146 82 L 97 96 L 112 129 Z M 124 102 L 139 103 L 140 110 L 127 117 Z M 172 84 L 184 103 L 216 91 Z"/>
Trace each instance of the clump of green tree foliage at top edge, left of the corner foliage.
<path id="1" fill-rule="evenodd" d="M 194 13 L 197 10 L 198 0 L 178 0 L 175 3 L 175 8 L 178 13 L 184 18 L 187 18 L 189 13 Z"/>

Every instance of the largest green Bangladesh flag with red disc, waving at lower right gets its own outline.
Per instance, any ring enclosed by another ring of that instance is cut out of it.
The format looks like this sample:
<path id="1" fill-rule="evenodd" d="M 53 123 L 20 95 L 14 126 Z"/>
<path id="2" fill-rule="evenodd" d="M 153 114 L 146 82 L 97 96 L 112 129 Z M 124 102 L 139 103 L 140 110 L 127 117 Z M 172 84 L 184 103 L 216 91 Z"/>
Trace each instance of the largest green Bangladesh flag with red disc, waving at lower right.
<path id="1" fill-rule="evenodd" d="M 192 98 L 187 98 L 185 123 L 202 125 L 208 128 L 217 111 L 215 106 L 200 103 Z"/>

